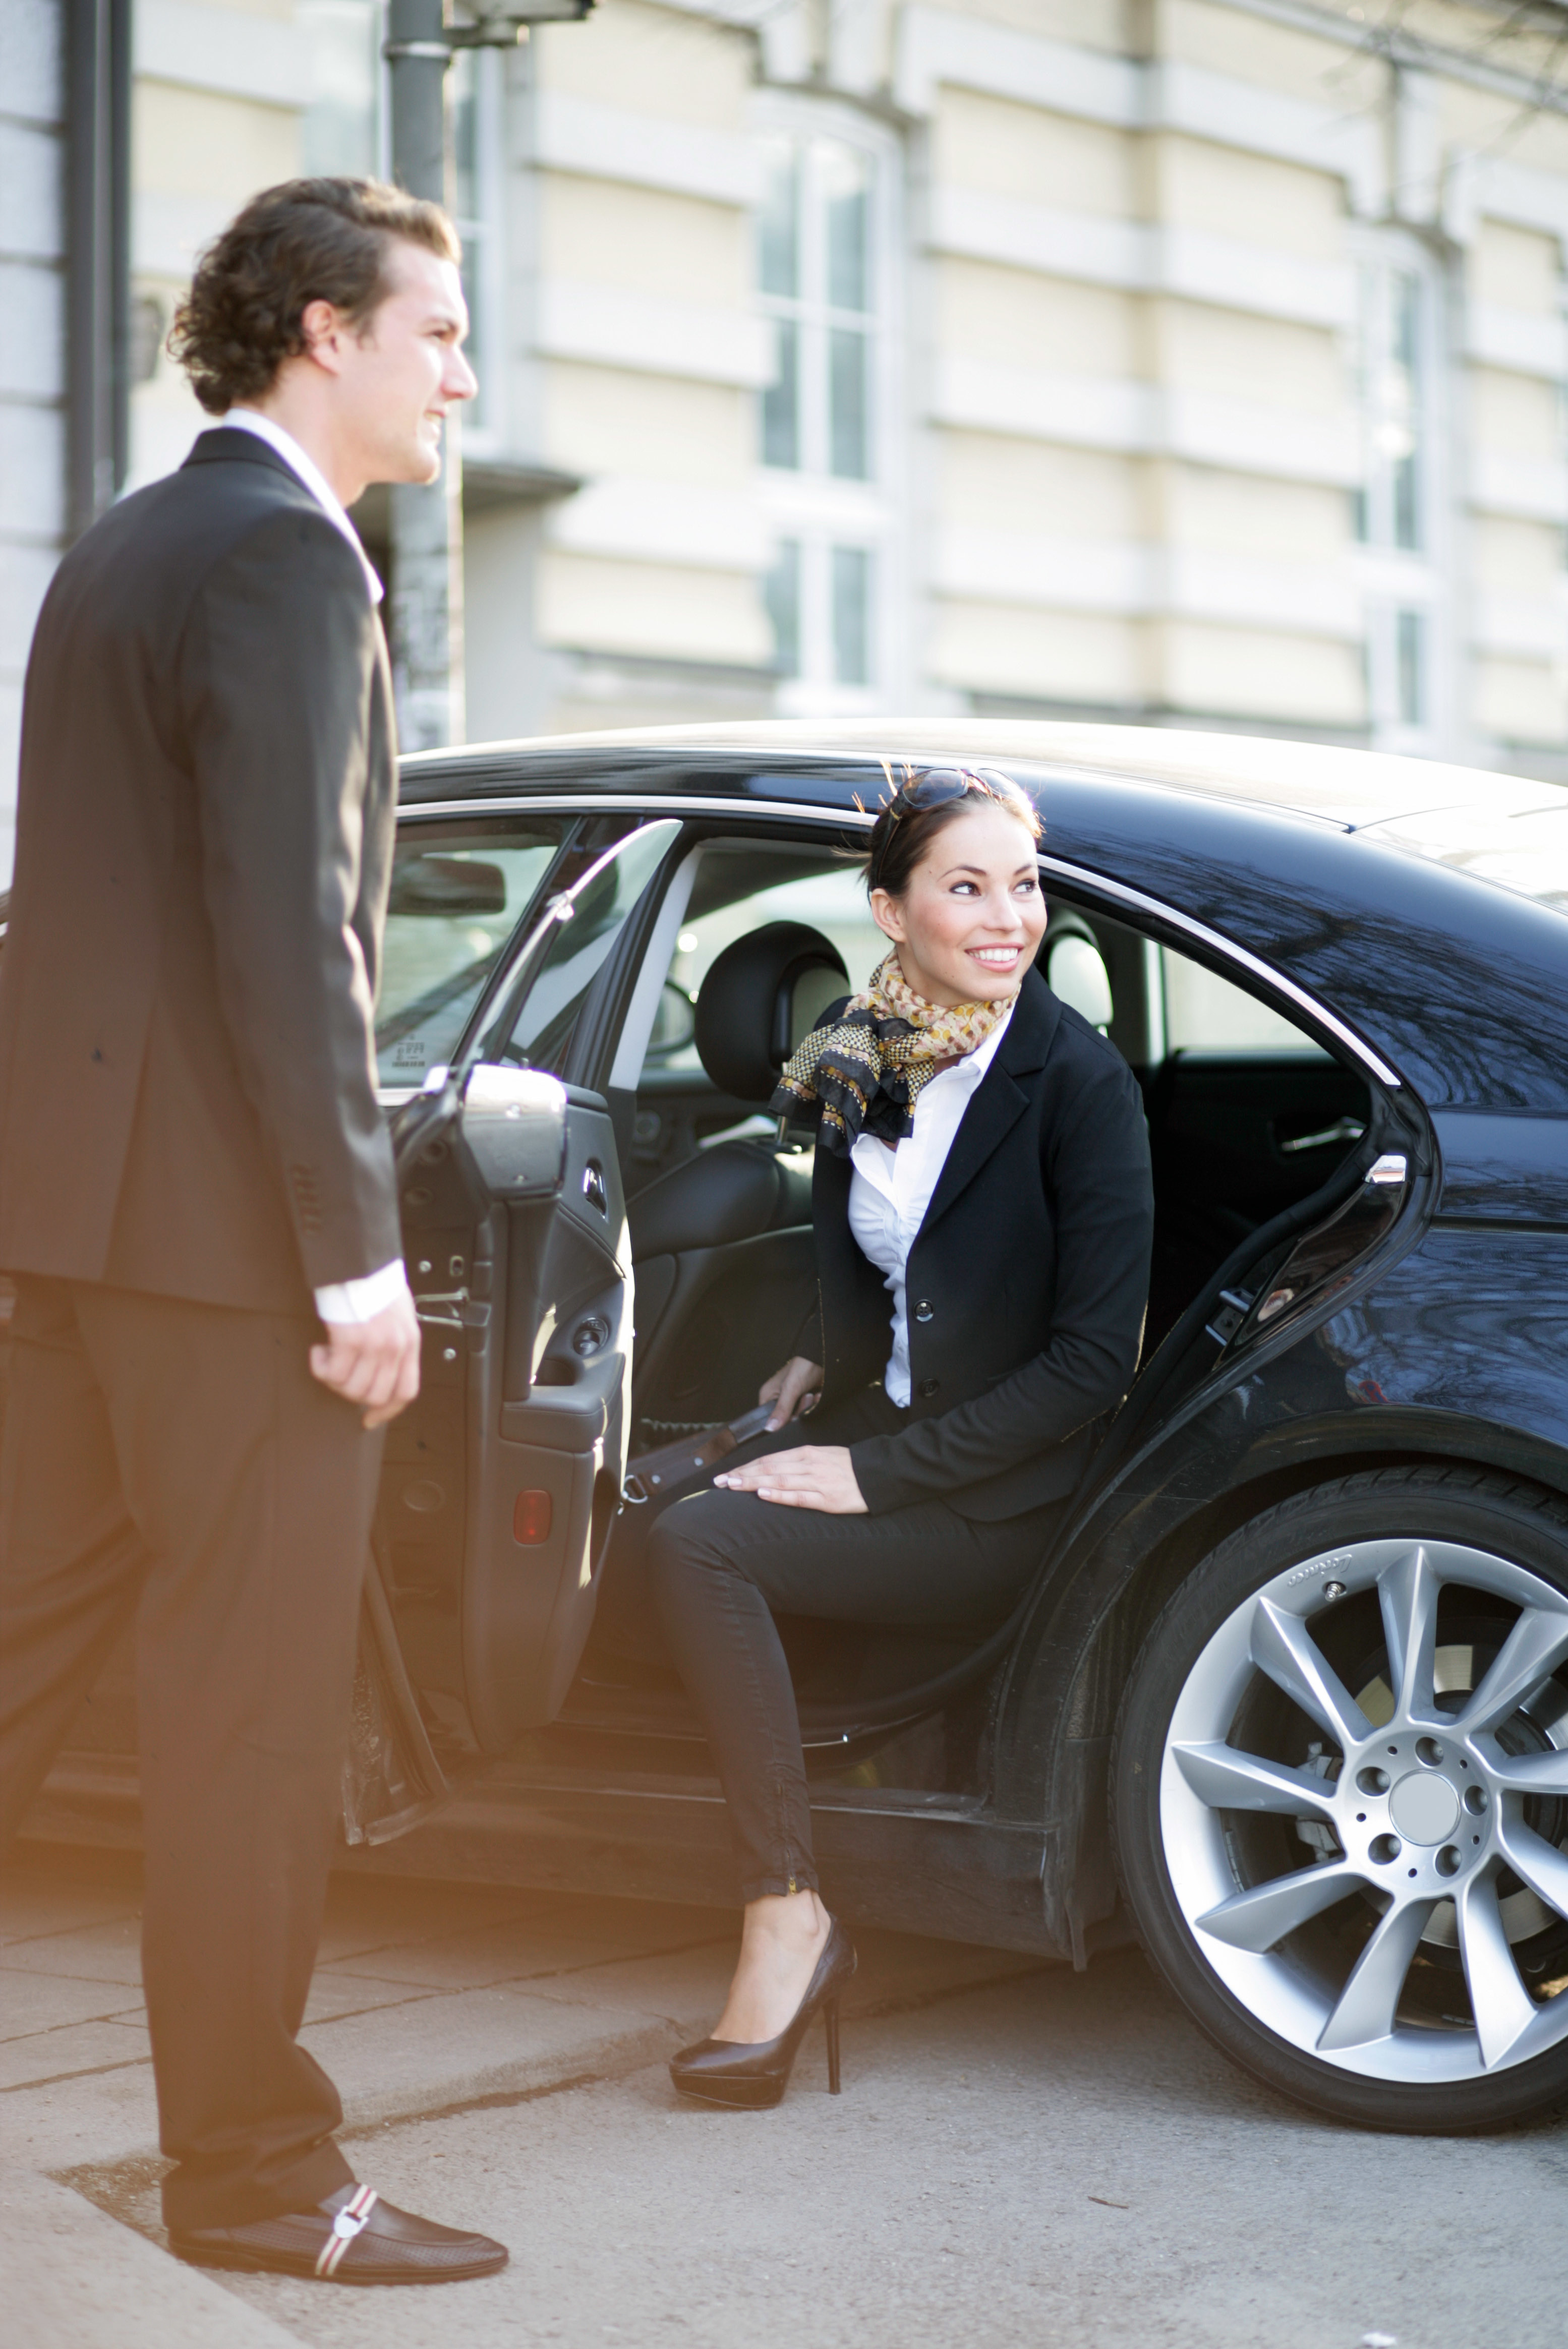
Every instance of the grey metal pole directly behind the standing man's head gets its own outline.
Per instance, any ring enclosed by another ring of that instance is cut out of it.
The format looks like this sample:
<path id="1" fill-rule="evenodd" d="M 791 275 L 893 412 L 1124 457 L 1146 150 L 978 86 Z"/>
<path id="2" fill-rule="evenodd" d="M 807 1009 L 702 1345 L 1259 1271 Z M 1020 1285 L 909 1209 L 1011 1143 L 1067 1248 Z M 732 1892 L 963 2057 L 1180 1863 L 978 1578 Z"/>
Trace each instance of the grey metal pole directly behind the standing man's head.
<path id="1" fill-rule="evenodd" d="M 388 0 L 393 179 L 447 202 L 442 0 Z M 463 451 L 447 418 L 447 463 L 428 489 L 393 484 L 393 684 L 404 749 L 463 740 Z"/>

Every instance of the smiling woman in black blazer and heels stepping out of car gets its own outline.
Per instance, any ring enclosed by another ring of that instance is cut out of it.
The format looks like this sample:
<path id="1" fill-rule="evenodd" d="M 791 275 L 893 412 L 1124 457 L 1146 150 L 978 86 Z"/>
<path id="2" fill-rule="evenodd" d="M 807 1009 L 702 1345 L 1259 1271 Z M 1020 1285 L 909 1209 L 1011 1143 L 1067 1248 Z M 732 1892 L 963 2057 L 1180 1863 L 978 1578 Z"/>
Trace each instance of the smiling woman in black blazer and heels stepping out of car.
<path id="1" fill-rule="evenodd" d="M 889 792 L 865 883 L 891 951 L 773 1095 L 816 1125 L 820 1301 L 762 1386 L 766 1435 L 658 1517 L 649 1588 L 637 1564 L 616 1593 L 632 1635 L 656 1609 L 736 1830 L 741 1966 L 715 2034 L 672 2065 L 708 2102 L 778 2102 L 818 2011 L 837 2086 L 856 1961 L 816 1889 L 776 1614 L 994 1628 L 1138 1360 L 1143 1106 L 1032 968 L 1037 839 L 1004 775 L 933 768 Z M 818 1398 L 818 1442 L 799 1445 L 785 1431 Z"/>

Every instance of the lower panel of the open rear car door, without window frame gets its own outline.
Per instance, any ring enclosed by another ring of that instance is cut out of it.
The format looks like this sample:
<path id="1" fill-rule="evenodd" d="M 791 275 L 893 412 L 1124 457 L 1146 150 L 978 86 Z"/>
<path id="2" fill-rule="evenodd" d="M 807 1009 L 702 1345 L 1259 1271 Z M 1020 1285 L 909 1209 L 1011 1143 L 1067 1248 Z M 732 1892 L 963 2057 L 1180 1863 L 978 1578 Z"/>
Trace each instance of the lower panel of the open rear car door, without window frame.
<path id="1" fill-rule="evenodd" d="M 390 1597 L 435 1717 L 503 1752 L 559 1708 L 592 1623 L 625 1473 L 625 1203 L 604 1102 L 531 1069 L 475 1069 L 411 1172 L 411 1261 L 468 1278 L 416 1283 L 425 1386 L 388 1449 Z"/>

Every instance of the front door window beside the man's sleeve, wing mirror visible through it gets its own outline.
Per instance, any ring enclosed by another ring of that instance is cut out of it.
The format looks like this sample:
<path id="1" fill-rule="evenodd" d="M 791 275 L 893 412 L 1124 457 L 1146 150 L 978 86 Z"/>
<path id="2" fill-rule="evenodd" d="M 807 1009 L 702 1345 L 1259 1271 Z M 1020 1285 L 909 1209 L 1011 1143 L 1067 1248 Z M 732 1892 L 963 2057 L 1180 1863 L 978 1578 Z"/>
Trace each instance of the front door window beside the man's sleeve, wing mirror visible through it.
<path id="1" fill-rule="evenodd" d="M 404 824 L 386 916 L 376 1073 L 414 1092 L 449 1062 L 574 820 Z"/>

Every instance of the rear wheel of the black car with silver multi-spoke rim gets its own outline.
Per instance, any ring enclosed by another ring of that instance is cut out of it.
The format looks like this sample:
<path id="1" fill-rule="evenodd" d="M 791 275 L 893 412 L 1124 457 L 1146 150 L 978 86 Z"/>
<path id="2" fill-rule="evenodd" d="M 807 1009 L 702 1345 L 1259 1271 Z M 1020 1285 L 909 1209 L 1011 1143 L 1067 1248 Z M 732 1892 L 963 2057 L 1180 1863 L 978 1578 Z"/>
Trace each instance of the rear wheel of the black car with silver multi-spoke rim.
<path id="1" fill-rule="evenodd" d="M 1568 2102 L 1568 1506 L 1418 1466 L 1239 1527 L 1133 1665 L 1112 1842 L 1269 2088 L 1415 2133 Z"/>

